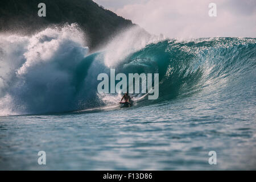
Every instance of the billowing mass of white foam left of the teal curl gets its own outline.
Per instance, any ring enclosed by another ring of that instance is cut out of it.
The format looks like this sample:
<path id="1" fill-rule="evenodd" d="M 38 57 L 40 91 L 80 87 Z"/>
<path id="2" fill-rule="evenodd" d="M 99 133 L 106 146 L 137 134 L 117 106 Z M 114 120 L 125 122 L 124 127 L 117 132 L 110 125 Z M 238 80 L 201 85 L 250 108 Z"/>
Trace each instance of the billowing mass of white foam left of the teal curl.
<path id="1" fill-rule="evenodd" d="M 88 53 L 85 44 L 77 24 L 0 34 L 0 115 L 54 111 L 72 100 L 72 71 Z"/>

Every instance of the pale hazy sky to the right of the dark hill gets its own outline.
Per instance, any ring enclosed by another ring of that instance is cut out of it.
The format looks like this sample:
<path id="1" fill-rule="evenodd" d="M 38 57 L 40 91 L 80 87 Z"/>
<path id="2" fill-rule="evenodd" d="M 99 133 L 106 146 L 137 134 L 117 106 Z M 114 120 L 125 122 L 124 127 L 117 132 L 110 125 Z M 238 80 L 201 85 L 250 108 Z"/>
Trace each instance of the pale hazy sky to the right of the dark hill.
<path id="1" fill-rule="evenodd" d="M 151 34 L 170 38 L 256 37 L 255 0 L 93 0 Z M 217 16 L 210 17 L 209 3 Z"/>

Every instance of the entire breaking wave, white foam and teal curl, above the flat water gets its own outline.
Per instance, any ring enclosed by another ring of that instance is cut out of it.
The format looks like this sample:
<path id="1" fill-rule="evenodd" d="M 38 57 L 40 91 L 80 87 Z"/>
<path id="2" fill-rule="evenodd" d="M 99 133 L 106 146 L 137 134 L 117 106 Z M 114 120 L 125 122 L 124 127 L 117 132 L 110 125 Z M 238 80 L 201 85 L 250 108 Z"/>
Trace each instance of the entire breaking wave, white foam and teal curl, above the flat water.
<path id="1" fill-rule="evenodd" d="M 75 25 L 47 28 L 31 37 L 1 35 L 0 114 L 39 114 L 115 104 L 118 94 L 98 94 L 99 73 L 159 73 L 155 104 L 181 97 L 224 97 L 232 88 L 255 100 L 256 39 L 189 41 L 118 35 L 104 51 L 88 55 Z M 240 94 L 237 94 L 240 96 Z M 139 98 L 141 96 L 135 96 Z M 146 97 L 147 98 L 147 97 Z M 243 97 L 241 97 L 243 98 Z"/>

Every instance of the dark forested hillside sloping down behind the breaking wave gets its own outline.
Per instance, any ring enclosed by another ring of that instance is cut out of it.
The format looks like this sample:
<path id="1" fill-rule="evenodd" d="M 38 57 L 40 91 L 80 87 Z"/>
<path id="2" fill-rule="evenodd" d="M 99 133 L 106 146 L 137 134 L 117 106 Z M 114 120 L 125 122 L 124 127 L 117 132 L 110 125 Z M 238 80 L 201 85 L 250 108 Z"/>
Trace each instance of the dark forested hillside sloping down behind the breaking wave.
<path id="1" fill-rule="evenodd" d="M 46 4 L 46 17 L 38 16 L 38 4 Z M 52 24 L 78 23 L 95 49 L 122 28 L 135 26 L 91 0 L 1 0 L 0 31 L 32 34 Z"/>

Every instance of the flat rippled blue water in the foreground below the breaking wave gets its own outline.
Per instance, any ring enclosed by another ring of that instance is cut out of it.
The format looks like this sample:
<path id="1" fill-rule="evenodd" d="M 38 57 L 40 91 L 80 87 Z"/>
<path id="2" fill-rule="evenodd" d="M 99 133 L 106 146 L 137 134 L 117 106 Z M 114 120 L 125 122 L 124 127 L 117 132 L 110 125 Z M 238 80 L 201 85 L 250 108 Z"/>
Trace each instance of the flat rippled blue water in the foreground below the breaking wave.
<path id="1" fill-rule="evenodd" d="M 255 169 L 255 107 L 232 103 L 194 97 L 99 113 L 1 117 L 0 169 Z M 37 163 L 41 150 L 46 166 Z M 208 163 L 209 151 L 217 152 L 217 165 Z"/>

